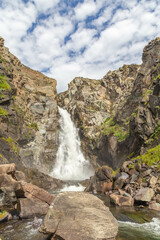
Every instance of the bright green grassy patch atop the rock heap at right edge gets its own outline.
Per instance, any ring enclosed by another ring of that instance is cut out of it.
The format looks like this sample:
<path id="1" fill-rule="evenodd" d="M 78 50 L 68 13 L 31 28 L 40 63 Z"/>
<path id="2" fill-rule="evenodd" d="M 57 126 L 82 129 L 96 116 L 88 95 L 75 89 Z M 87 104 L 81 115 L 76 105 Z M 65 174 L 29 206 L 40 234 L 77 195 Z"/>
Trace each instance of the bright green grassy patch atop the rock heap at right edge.
<path id="1" fill-rule="evenodd" d="M 157 164 L 157 167 L 160 169 L 160 144 L 149 149 L 146 154 L 140 155 L 136 159 L 139 159 L 140 162 L 145 163 L 148 166 Z"/>

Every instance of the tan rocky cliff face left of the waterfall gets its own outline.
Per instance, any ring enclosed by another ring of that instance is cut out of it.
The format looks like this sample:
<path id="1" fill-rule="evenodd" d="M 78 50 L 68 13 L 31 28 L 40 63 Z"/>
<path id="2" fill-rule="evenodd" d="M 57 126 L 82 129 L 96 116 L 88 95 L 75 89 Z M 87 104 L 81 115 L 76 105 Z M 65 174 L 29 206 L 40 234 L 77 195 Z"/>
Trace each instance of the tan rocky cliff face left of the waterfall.
<path id="1" fill-rule="evenodd" d="M 0 38 L 0 161 L 48 173 L 57 152 L 56 80 L 21 64 Z"/>

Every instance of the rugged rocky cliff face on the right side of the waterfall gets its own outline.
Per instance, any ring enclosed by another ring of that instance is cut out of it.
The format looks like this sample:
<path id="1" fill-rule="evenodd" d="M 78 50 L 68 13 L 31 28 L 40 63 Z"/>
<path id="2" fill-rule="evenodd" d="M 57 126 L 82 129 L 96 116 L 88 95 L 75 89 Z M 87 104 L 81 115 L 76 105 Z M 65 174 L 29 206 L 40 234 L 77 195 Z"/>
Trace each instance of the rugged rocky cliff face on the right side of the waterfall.
<path id="1" fill-rule="evenodd" d="M 116 169 L 160 141 L 160 38 L 144 48 L 142 61 L 109 71 L 101 80 L 75 78 L 58 95 L 95 165 Z"/>

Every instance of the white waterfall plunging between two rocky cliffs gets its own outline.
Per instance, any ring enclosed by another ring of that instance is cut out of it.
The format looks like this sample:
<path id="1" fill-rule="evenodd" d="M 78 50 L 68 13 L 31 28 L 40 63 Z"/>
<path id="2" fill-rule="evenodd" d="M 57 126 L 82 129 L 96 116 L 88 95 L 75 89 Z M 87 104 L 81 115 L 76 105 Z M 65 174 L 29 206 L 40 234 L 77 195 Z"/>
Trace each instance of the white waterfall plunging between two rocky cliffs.
<path id="1" fill-rule="evenodd" d="M 94 174 L 81 151 L 78 131 L 70 114 L 58 107 L 60 119 L 59 148 L 51 175 L 61 180 L 84 180 Z"/>

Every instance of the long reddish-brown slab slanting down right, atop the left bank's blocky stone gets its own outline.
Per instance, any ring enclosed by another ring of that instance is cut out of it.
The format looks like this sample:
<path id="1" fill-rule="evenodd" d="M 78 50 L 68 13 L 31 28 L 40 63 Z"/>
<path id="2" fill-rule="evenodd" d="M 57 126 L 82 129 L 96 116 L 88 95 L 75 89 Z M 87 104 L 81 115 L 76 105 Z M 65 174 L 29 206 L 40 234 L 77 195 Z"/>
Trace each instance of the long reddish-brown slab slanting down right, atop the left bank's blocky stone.
<path id="1" fill-rule="evenodd" d="M 24 196 L 27 198 L 36 198 L 47 204 L 51 204 L 54 196 L 42 188 L 39 188 L 31 183 L 21 182 Z"/>

